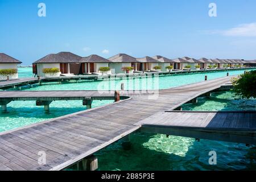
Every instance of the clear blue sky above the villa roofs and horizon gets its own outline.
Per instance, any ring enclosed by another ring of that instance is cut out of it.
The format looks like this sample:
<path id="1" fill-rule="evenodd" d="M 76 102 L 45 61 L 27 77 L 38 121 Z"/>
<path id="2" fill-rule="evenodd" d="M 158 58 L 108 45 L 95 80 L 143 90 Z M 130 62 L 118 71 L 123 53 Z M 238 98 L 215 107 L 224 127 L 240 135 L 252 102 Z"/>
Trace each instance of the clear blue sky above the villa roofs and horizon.
<path id="1" fill-rule="evenodd" d="M 255 0 L 0 0 L 0 22 L 0 52 L 24 65 L 60 51 L 256 59 Z"/>

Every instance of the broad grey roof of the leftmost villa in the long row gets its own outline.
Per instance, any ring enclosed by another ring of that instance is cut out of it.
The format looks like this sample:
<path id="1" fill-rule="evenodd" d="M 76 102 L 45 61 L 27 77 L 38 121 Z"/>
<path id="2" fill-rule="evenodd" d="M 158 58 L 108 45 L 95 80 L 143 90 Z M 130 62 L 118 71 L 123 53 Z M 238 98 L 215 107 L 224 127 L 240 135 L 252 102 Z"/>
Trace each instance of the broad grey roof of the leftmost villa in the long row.
<path id="1" fill-rule="evenodd" d="M 51 53 L 43 58 L 35 61 L 33 64 L 38 63 L 79 63 L 80 56 L 71 52 L 59 52 L 57 54 Z"/>

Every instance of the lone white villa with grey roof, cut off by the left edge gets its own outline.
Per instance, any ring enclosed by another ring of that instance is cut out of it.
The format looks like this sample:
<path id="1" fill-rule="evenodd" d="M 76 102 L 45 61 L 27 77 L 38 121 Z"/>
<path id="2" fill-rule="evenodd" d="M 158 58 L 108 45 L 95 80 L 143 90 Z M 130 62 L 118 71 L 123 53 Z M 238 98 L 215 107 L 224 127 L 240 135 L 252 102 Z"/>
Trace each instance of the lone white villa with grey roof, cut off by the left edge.
<path id="1" fill-rule="evenodd" d="M 0 53 L 0 80 L 18 78 L 17 67 L 21 63 L 5 53 Z"/>

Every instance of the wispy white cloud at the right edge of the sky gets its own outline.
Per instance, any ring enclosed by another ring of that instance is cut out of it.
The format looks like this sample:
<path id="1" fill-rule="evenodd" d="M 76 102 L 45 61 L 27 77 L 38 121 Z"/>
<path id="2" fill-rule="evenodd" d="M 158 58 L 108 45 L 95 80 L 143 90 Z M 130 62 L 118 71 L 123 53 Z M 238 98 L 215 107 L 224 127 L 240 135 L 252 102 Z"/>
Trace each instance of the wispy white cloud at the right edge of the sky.
<path id="1" fill-rule="evenodd" d="M 222 31 L 225 36 L 256 36 L 256 23 L 240 24 L 237 27 Z"/>

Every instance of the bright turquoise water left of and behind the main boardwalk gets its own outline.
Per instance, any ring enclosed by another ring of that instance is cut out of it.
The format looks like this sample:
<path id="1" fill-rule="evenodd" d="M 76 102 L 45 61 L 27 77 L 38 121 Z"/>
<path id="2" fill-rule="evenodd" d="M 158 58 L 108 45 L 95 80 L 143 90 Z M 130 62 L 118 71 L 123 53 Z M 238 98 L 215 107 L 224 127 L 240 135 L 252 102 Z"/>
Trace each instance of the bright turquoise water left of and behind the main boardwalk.
<path id="1" fill-rule="evenodd" d="M 19 75 L 27 77 L 32 75 L 32 68 L 19 68 Z M 244 71 L 229 71 L 230 75 L 239 75 Z M 177 75 L 152 78 L 136 78 L 136 79 L 117 79 L 106 81 L 81 81 L 81 82 L 65 82 L 64 84 L 44 83 L 42 86 L 38 84 L 33 88 L 24 87 L 22 90 L 115 90 L 121 88 L 121 83 L 125 84 L 125 89 L 166 89 L 175 86 L 185 85 L 193 82 L 204 80 L 207 75 L 208 79 L 226 76 L 226 72 L 200 73 L 193 75 Z M 94 101 L 93 106 L 97 107 L 109 104 L 112 101 Z M 23 102 L 14 101 L 7 105 L 9 113 L 0 114 L 0 132 L 16 127 L 30 125 L 50 118 L 59 117 L 61 115 L 75 113 L 76 111 L 85 110 L 81 101 L 53 101 L 50 105 L 50 114 L 45 114 L 43 107 L 35 105 L 35 101 Z"/>

